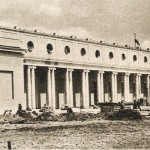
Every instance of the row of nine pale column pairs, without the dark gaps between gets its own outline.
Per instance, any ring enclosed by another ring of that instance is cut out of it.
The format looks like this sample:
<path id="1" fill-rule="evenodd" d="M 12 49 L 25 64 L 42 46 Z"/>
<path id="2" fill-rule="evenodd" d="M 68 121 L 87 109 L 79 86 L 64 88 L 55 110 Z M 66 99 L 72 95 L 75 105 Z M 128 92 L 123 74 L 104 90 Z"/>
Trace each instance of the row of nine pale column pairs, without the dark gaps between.
<path id="1" fill-rule="evenodd" d="M 35 66 L 28 66 L 27 69 L 27 106 L 29 108 L 36 108 L 36 93 L 35 93 Z M 47 104 L 56 108 L 56 89 L 55 89 L 55 71 L 56 68 L 48 67 L 47 69 Z M 66 69 L 65 73 L 65 99 L 66 104 L 70 107 L 74 106 L 73 102 L 73 69 Z M 105 102 L 104 97 L 104 71 L 98 70 L 97 72 L 97 101 Z M 81 105 L 88 108 L 90 106 L 90 93 L 89 93 L 89 73 L 90 70 L 82 70 L 82 96 Z M 126 72 L 123 74 L 123 99 L 128 101 L 130 93 L 129 77 L 131 73 Z M 133 74 L 133 73 L 132 73 Z M 117 75 L 118 72 L 111 72 L 111 102 L 118 102 L 117 97 Z M 136 78 L 136 99 L 140 99 L 141 95 L 141 74 L 135 74 Z M 150 75 L 147 75 L 147 100 L 150 102 Z"/>

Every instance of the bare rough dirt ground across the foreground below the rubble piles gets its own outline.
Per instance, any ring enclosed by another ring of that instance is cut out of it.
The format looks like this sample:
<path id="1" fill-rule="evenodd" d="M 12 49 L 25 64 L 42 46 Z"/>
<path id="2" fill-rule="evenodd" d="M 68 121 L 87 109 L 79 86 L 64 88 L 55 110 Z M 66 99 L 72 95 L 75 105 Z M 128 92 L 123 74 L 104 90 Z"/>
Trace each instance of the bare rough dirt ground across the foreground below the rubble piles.
<path id="1" fill-rule="evenodd" d="M 150 120 L 0 125 L 0 149 L 150 149 Z"/>

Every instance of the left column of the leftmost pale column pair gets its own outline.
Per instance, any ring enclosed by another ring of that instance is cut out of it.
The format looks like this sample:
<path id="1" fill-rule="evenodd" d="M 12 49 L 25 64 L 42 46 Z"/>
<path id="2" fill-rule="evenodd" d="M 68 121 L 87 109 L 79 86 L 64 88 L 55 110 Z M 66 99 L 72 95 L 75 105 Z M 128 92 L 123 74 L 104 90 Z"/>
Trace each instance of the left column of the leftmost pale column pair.
<path id="1" fill-rule="evenodd" d="M 28 66 L 27 82 L 27 107 L 31 108 L 31 66 Z"/>

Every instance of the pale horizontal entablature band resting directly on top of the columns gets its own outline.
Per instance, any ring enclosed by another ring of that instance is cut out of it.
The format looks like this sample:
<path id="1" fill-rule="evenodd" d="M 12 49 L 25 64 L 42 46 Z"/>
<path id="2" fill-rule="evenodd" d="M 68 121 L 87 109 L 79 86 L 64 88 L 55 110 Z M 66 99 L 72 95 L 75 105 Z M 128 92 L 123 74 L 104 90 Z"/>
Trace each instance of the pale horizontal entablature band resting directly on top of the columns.
<path id="1" fill-rule="evenodd" d="M 64 68 L 64 69 L 76 69 L 76 70 L 89 70 L 89 71 L 99 71 L 99 72 L 116 72 L 116 73 L 129 73 L 129 74 L 150 74 L 149 69 L 139 69 L 139 68 L 119 68 L 119 67 L 110 67 L 104 65 L 94 65 L 94 64 L 83 64 L 83 63 L 71 63 L 63 61 L 48 61 L 42 59 L 24 59 L 24 65 L 26 66 L 39 66 L 39 67 L 55 67 L 55 68 Z"/>

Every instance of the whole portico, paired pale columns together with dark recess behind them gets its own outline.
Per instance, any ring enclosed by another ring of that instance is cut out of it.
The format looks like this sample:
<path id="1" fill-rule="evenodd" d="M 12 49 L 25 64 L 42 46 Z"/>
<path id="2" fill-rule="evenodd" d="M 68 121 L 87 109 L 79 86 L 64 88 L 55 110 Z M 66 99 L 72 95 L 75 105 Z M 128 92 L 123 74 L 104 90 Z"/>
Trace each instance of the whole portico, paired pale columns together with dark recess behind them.
<path id="1" fill-rule="evenodd" d="M 150 99 L 150 76 L 147 74 L 32 65 L 26 67 L 27 106 L 32 109 L 41 108 L 45 103 L 54 109 L 64 106 L 89 108 L 101 102 L 143 99 L 148 103 Z M 43 70 L 43 73 L 39 70 Z M 42 92 L 37 96 L 40 89 Z"/>

